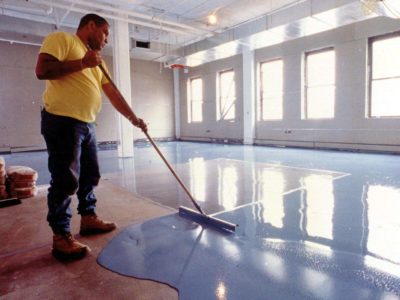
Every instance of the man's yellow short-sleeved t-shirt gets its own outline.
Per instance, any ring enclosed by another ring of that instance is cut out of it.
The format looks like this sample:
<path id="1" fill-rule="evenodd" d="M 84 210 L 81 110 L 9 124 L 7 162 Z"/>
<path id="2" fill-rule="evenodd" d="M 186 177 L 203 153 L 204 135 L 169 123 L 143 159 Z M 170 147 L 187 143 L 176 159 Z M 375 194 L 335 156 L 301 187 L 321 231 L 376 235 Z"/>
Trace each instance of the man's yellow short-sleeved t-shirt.
<path id="1" fill-rule="evenodd" d="M 48 35 L 40 53 L 59 61 L 82 59 L 87 48 L 77 35 L 55 32 Z M 103 62 L 103 66 L 105 64 Z M 99 67 L 86 68 L 54 80 L 46 80 L 43 102 L 49 113 L 91 123 L 101 109 L 102 85 L 108 80 Z"/>

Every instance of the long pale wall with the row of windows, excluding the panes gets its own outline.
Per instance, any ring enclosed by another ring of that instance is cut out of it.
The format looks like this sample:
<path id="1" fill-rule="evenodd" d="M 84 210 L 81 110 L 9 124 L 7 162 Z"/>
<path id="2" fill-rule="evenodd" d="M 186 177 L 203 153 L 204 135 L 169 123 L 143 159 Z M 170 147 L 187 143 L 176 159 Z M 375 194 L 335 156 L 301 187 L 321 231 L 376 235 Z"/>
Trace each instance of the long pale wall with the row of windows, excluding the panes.
<path id="1" fill-rule="evenodd" d="M 257 121 L 255 143 L 318 148 L 362 149 L 400 152 L 400 118 L 366 118 L 368 37 L 400 30 L 398 20 L 375 18 L 317 35 L 288 41 L 255 51 L 255 63 L 282 57 L 284 60 L 284 117 L 280 121 Z M 304 53 L 333 46 L 336 51 L 336 106 L 332 120 L 302 120 L 302 61 Z M 398 59 L 394 57 L 393 59 Z M 190 70 L 181 79 L 182 139 L 243 140 L 242 94 L 237 87 L 238 118 L 230 129 L 215 121 L 216 73 L 233 67 L 241 78 L 242 59 L 208 63 Z M 205 91 L 202 124 L 187 122 L 187 79 L 203 77 Z M 256 74 L 257 78 L 257 74 Z M 237 84 L 241 84 L 238 78 Z M 259 93 L 255 91 L 256 98 Z M 257 100 L 256 100 L 257 101 Z M 257 107 L 257 106 L 256 106 Z"/>

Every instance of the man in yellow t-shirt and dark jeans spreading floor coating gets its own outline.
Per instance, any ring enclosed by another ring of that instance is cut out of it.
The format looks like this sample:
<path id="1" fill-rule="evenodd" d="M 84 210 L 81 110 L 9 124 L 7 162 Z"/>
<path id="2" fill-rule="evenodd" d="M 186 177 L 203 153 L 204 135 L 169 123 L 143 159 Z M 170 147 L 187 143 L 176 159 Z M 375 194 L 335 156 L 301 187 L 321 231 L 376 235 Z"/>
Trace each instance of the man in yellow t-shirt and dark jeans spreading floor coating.
<path id="1" fill-rule="evenodd" d="M 53 255 L 81 258 L 89 247 L 70 232 L 71 195 L 77 194 L 81 235 L 116 228 L 100 220 L 93 192 L 100 180 L 95 125 L 103 90 L 112 105 L 132 125 L 147 130 L 119 91 L 102 73 L 100 51 L 107 44 L 109 24 L 95 14 L 85 15 L 75 35 L 55 32 L 47 36 L 36 65 L 38 79 L 46 80 L 41 130 L 49 154 L 51 173 L 47 221 L 53 230 Z M 110 199 L 111 200 L 111 199 Z"/>

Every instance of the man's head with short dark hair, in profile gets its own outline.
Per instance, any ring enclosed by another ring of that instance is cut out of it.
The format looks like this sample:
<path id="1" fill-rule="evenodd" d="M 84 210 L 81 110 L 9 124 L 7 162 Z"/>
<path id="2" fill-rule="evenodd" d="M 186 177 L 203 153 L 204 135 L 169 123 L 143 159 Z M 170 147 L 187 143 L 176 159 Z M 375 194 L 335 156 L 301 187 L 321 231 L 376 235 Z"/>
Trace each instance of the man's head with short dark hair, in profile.
<path id="1" fill-rule="evenodd" d="M 82 17 L 77 33 L 92 50 L 101 50 L 107 44 L 110 25 L 103 17 L 87 14 Z"/>

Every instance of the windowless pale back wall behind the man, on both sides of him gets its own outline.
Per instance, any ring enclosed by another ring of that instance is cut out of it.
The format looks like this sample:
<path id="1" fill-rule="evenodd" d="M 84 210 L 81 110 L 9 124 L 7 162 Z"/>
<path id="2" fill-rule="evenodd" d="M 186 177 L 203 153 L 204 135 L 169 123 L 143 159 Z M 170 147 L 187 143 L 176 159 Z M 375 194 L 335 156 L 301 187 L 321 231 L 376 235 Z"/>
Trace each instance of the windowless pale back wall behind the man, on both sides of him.
<path id="1" fill-rule="evenodd" d="M 45 82 L 34 68 L 38 46 L 0 42 L 0 151 L 45 149 L 40 134 L 40 106 Z M 105 57 L 112 70 L 111 57 Z M 174 137 L 173 75 L 158 63 L 132 60 L 134 110 L 149 122 L 155 138 Z M 103 97 L 97 122 L 98 142 L 117 140 L 117 112 Z M 143 138 L 140 130 L 135 139 Z"/>

